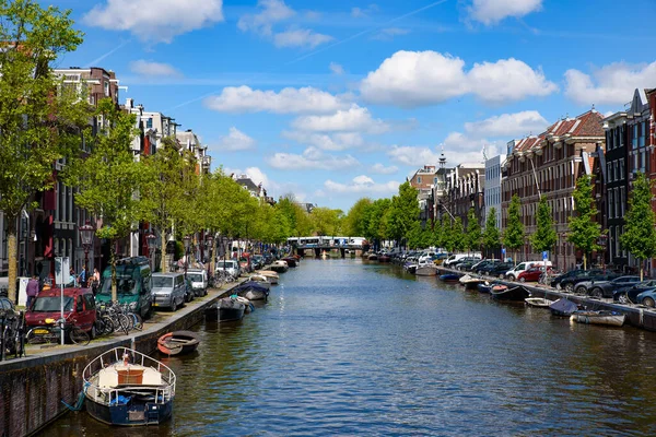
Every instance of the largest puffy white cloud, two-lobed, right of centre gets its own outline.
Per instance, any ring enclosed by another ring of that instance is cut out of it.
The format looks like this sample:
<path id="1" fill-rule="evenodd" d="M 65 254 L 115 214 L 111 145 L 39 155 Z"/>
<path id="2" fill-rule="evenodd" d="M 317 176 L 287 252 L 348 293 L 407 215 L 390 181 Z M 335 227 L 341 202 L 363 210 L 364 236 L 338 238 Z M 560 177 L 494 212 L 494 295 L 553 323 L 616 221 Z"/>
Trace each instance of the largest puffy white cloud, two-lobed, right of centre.
<path id="1" fill-rule="evenodd" d="M 417 107 L 473 94 L 483 102 L 501 104 L 558 91 L 540 70 L 516 59 L 476 63 L 436 51 L 397 51 L 362 81 L 360 91 L 376 104 Z"/>

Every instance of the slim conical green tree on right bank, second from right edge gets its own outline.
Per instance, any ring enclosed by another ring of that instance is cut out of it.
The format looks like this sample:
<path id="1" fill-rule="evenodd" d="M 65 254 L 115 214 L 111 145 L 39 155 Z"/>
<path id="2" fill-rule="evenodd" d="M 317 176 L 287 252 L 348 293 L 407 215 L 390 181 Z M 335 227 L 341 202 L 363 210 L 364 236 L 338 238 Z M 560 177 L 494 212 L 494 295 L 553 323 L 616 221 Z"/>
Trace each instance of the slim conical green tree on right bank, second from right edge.
<path id="1" fill-rule="evenodd" d="M 574 197 L 574 215 L 570 217 L 567 241 L 583 252 L 583 269 L 587 269 L 587 257 L 593 250 L 600 250 L 597 240 L 601 235 L 601 225 L 596 223 L 597 206 L 593 198 L 593 178 L 584 175 L 576 180 Z"/>

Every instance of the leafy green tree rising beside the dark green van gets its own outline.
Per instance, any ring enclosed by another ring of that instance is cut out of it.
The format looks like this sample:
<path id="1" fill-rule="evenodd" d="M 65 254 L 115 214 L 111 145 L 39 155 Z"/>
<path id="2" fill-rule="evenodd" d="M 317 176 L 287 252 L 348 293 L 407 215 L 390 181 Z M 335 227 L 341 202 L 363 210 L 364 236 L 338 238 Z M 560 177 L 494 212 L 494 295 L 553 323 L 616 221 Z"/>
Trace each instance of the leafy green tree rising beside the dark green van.
<path id="1" fill-rule="evenodd" d="M 134 161 L 130 149 L 139 132 L 133 115 L 121 111 L 108 98 L 98 102 L 96 117 L 103 122 L 89 157 L 71 160 L 63 174 L 65 182 L 78 187 L 75 203 L 96 217 L 102 225 L 98 238 L 109 240 L 112 263 L 112 300 L 116 300 L 116 241 L 130 235 L 145 216 L 139 199 L 145 172 Z"/>

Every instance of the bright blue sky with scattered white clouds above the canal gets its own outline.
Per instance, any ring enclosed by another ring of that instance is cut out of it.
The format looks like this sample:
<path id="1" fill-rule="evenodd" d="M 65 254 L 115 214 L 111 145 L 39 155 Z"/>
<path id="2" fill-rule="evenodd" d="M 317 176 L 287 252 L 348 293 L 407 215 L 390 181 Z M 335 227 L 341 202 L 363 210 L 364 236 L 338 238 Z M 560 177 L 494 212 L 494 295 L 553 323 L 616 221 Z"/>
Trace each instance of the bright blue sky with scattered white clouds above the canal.
<path id="1" fill-rule="evenodd" d="M 46 3 L 46 2 L 44 2 Z M 50 3 L 47 3 L 50 4 Z M 60 0 L 103 67 L 213 166 L 347 212 L 656 86 L 654 0 Z"/>

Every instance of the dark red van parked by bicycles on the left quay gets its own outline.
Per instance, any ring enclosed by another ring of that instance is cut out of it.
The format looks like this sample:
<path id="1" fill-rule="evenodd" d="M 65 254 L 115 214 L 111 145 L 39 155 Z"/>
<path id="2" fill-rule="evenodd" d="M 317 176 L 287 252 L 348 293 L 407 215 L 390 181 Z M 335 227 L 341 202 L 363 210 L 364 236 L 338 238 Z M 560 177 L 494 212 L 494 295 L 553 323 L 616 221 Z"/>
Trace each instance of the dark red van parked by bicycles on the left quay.
<path id="1" fill-rule="evenodd" d="M 25 312 L 25 324 L 38 327 L 49 324 L 46 319 L 61 318 L 61 288 L 55 287 L 42 291 L 32 308 Z M 94 338 L 96 321 L 96 304 L 91 288 L 63 288 L 63 317 L 67 323 L 89 332 Z"/>

